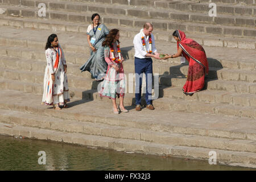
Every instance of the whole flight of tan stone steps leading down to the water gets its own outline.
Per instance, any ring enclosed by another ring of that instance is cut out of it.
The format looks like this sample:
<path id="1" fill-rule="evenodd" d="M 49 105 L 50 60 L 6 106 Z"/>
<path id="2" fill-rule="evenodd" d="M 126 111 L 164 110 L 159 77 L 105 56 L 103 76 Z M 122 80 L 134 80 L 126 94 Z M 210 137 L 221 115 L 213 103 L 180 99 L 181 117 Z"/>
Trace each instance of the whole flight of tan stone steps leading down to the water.
<path id="1" fill-rule="evenodd" d="M 217 17 L 208 16 L 208 1 L 0 1 L 5 10 L 0 15 L 0 134 L 203 160 L 213 150 L 219 162 L 255 167 L 256 6 L 254 1 L 214 2 Z M 46 4 L 44 18 L 38 16 L 39 3 Z M 79 70 L 89 57 L 85 32 L 92 13 L 99 13 L 109 29 L 119 28 L 127 78 L 134 73 L 133 36 L 144 22 L 154 24 L 161 53 L 175 53 L 171 34 L 176 28 L 185 31 L 207 53 L 205 90 L 185 96 L 188 64 L 179 58 L 154 60 L 156 110 L 136 112 L 134 93 L 127 93 L 130 113 L 113 115 L 110 101 L 98 97 L 99 82 Z M 68 63 L 71 103 L 61 111 L 40 105 L 44 46 L 52 32 Z"/>

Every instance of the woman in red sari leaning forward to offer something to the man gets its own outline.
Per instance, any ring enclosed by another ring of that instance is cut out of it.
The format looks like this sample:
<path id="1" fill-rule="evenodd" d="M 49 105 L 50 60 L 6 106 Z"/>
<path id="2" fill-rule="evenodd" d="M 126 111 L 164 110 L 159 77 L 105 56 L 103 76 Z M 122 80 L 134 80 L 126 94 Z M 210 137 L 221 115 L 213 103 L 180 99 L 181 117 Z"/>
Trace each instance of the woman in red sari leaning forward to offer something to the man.
<path id="1" fill-rule="evenodd" d="M 186 38 L 183 31 L 176 30 L 172 36 L 177 41 L 177 53 L 166 55 L 163 59 L 183 56 L 188 60 L 188 76 L 183 92 L 192 95 L 204 88 L 204 77 L 209 72 L 207 56 L 204 48 L 195 40 Z"/>

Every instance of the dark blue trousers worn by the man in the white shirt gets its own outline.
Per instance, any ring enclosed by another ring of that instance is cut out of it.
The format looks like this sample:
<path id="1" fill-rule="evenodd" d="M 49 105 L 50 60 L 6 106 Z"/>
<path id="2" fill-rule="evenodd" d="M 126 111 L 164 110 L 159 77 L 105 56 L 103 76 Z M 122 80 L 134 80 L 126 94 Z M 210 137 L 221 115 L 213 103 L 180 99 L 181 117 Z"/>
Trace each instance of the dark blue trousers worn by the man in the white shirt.
<path id="1" fill-rule="evenodd" d="M 152 95 L 152 59 L 151 58 L 145 58 L 145 59 L 139 59 L 138 57 L 135 57 L 135 100 L 136 105 L 141 104 L 141 88 L 142 88 L 142 77 L 143 73 L 146 75 L 146 103 L 147 105 L 152 104 L 152 100 L 150 100 Z"/>

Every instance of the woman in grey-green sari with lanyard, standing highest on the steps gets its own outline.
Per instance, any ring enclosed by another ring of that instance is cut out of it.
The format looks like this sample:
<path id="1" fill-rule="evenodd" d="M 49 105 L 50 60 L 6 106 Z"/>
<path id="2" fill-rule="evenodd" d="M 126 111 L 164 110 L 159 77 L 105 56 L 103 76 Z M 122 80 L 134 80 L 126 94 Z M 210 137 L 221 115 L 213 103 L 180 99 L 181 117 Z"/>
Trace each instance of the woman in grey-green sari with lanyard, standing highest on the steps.
<path id="1" fill-rule="evenodd" d="M 101 81 L 104 79 L 108 68 L 102 42 L 104 42 L 106 35 L 109 34 L 109 30 L 103 23 L 100 23 L 100 15 L 97 13 L 92 15 L 92 21 L 93 23 L 87 29 L 87 40 L 91 48 L 90 58 L 82 65 L 80 70 L 92 73 L 92 76 L 97 81 Z"/>

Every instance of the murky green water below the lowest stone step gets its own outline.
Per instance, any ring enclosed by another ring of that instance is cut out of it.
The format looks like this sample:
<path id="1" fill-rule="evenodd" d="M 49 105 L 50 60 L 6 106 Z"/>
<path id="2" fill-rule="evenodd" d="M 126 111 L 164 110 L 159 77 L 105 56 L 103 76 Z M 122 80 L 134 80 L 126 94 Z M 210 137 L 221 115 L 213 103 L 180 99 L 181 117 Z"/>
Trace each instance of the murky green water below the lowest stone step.
<path id="1" fill-rule="evenodd" d="M 38 164 L 39 151 L 46 164 Z M 0 170 L 256 170 L 0 135 Z"/>

